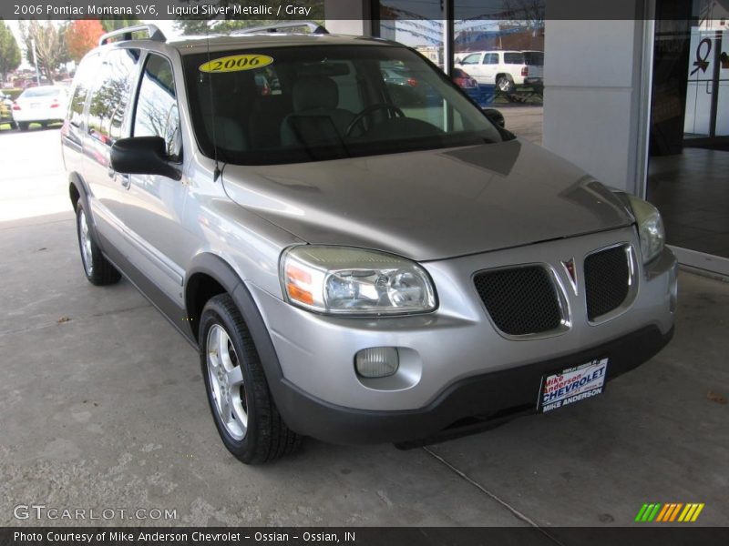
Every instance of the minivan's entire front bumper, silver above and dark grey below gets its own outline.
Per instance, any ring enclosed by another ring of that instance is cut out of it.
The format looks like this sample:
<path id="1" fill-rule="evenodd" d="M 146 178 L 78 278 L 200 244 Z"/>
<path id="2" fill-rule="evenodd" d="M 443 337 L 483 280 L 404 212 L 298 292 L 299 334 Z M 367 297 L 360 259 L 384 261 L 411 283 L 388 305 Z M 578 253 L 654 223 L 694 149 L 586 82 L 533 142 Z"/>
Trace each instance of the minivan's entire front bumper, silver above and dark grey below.
<path id="1" fill-rule="evenodd" d="M 615 363 L 611 360 L 611 376 L 637 366 L 670 339 L 676 261 L 668 249 L 648 266 L 638 260 L 634 298 L 610 319 L 590 323 L 582 263 L 590 252 L 615 243 L 640 248 L 631 226 L 424 263 L 435 283 L 439 307 L 433 313 L 409 317 L 354 319 L 317 315 L 249 285 L 278 361 L 281 377 L 272 381 L 272 390 L 284 419 L 293 430 L 327 440 L 406 440 L 420 437 L 423 432 L 436 433 L 454 420 L 469 416 L 490 415 L 519 406 L 536 407 L 539 380 L 535 387 L 535 377 L 540 379 L 545 369 L 584 363 L 612 343 L 620 347 L 611 349 L 616 351 Z M 567 272 L 560 263 L 570 258 L 574 258 L 577 268 L 575 290 L 570 288 Z M 493 327 L 478 298 L 473 274 L 486 268 L 529 263 L 547 264 L 565 288 L 569 328 L 544 337 L 509 339 Z M 634 337 L 636 332 L 641 332 L 638 338 Z M 633 348 L 637 356 L 625 356 L 628 350 L 621 347 L 629 348 L 630 343 L 621 344 L 621 339 L 640 341 Z M 374 380 L 357 376 L 354 355 L 372 347 L 398 349 L 401 367 L 395 376 Z M 513 379 L 522 377 L 524 370 L 531 370 L 523 374 L 526 379 Z M 516 390 L 512 390 L 512 381 Z M 467 384 L 477 385 L 473 399 L 464 394 L 471 392 L 469 389 L 457 387 Z M 486 389 L 487 384 L 492 387 Z M 442 404 L 445 410 L 436 410 Z M 341 414 L 345 423 L 341 430 L 334 424 L 337 419 L 332 417 L 333 413 Z M 407 415 L 428 417 L 422 421 L 418 418 L 416 421 L 422 422 L 418 425 L 403 417 Z M 332 424 L 320 427 L 320 423 Z M 404 423 L 405 428 L 401 429 Z M 354 424 L 358 427 L 351 435 L 339 436 Z M 330 429 L 337 432 L 328 432 Z"/>

